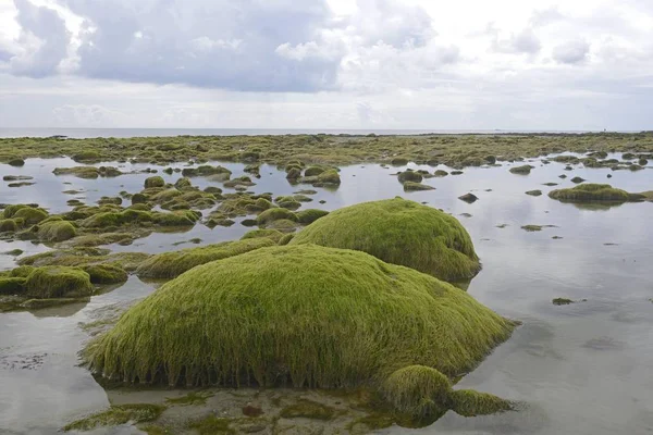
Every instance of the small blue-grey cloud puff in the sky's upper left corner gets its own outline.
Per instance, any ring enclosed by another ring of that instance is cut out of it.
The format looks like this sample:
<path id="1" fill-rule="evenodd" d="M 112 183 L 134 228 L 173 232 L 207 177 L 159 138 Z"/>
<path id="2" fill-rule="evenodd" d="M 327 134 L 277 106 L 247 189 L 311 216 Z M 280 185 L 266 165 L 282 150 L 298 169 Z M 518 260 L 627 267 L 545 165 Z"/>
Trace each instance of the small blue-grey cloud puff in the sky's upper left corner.
<path id="1" fill-rule="evenodd" d="M 54 10 L 27 0 L 14 0 L 14 5 L 21 26 L 20 51 L 10 58 L 10 71 L 29 77 L 56 74 L 71 42 L 65 22 Z"/>

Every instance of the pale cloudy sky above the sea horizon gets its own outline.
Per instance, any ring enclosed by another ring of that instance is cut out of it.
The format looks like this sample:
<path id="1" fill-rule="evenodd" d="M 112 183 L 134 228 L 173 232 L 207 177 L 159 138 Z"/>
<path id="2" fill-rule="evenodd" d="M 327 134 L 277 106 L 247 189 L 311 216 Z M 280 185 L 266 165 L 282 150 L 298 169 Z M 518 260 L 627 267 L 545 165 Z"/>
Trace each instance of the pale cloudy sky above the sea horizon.
<path id="1" fill-rule="evenodd" d="M 653 0 L 0 0 L 0 127 L 653 129 Z"/>

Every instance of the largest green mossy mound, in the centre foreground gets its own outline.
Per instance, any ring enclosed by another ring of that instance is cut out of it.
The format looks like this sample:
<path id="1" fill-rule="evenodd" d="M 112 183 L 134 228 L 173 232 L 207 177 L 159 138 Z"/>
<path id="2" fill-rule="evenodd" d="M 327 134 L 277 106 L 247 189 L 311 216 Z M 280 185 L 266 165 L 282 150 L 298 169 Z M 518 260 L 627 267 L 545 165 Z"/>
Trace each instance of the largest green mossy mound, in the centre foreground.
<path id="1" fill-rule="evenodd" d="M 465 291 L 365 252 L 278 246 L 167 283 L 85 359 L 127 383 L 335 388 L 407 364 L 459 375 L 513 327 Z"/>

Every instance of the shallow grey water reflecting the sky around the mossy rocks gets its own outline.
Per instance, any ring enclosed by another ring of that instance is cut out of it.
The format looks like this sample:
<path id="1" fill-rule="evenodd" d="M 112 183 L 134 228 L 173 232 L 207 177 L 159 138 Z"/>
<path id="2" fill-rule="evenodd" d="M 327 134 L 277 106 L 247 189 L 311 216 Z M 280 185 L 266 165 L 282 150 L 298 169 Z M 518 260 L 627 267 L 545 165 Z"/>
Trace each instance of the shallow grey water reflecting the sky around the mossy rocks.
<path id="1" fill-rule="evenodd" d="M 102 164 L 118 165 L 124 172 L 158 169 L 158 175 L 167 182 L 181 176 L 160 173 L 163 167 L 149 164 Z M 242 175 L 242 164 L 222 164 L 234 171 L 234 176 Z M 384 433 L 653 432 L 653 303 L 649 301 L 653 298 L 653 203 L 590 210 L 546 196 L 551 189 L 571 187 L 569 178 L 575 175 L 629 191 L 651 190 L 653 171 L 564 171 L 564 165 L 555 162 L 543 165 L 533 160 L 531 164 L 535 169 L 526 176 L 510 174 L 508 164 L 467 169 L 463 175 L 426 179 L 423 183 L 436 190 L 418 192 L 404 192 L 390 175 L 403 167 L 346 166 L 342 167 L 338 189 L 318 188 L 313 201 L 303 206 L 334 210 L 399 195 L 454 214 L 469 231 L 483 263 L 468 291 L 498 313 L 523 322 L 507 343 L 458 384 L 522 401 L 522 410 L 468 419 L 449 412 L 429 427 L 391 427 Z M 0 202 L 37 202 L 50 212 L 63 212 L 70 210 L 65 201 L 72 198 L 84 198 L 91 204 L 101 196 L 116 196 L 121 190 L 139 191 L 144 179 L 151 175 L 135 173 L 87 181 L 51 173 L 56 166 L 72 165 L 76 163 L 69 159 L 29 159 L 19 169 L 0 164 L 2 175 L 32 175 L 36 182 L 20 188 L 2 183 Z M 285 174 L 274 166 L 262 166 L 260 172 L 252 191 L 278 196 L 312 189 L 289 185 Z M 567 179 L 558 178 L 563 173 Z M 614 177 L 608 179 L 607 174 Z M 547 182 L 559 186 L 542 185 Z M 210 185 L 201 177 L 193 178 L 193 184 Z M 62 194 L 66 189 L 84 192 Z M 531 189 L 541 189 L 543 195 L 525 195 Z M 457 199 L 468 191 L 479 200 L 468 204 Z M 319 200 L 326 202 L 320 204 Z M 500 224 L 507 226 L 500 228 Z M 520 228 L 527 224 L 556 227 L 527 233 Z M 195 237 L 209 244 L 238 238 L 249 229 L 239 223 L 214 229 L 198 224 L 184 233 L 153 233 L 131 246 L 109 247 L 115 251 L 159 252 L 195 246 L 175 245 Z M 0 252 L 15 248 L 25 250 L 25 254 L 49 249 L 32 243 L 0 241 Z M 0 269 L 14 265 L 14 257 L 0 254 Z M 49 434 L 82 414 L 106 407 L 107 393 L 88 372 L 76 366 L 76 352 L 88 337 L 78 323 L 91 321 L 94 312 L 102 307 L 141 298 L 152 289 L 132 277 L 121 288 L 93 297 L 87 304 L 0 314 L 0 433 Z M 551 302 L 556 297 L 587 301 L 556 307 Z M 124 427 L 116 431 L 111 433 L 137 433 Z"/>

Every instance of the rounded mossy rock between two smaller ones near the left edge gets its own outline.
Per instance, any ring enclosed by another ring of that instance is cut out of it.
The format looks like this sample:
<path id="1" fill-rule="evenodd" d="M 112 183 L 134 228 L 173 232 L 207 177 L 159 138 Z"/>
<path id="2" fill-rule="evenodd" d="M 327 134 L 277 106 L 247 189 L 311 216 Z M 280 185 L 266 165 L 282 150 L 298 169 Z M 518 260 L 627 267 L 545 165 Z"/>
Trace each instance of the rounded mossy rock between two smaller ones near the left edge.
<path id="1" fill-rule="evenodd" d="M 70 298 L 90 296 L 93 284 L 88 273 L 66 266 L 42 266 L 35 269 L 25 283 L 26 295 L 30 298 Z"/>

